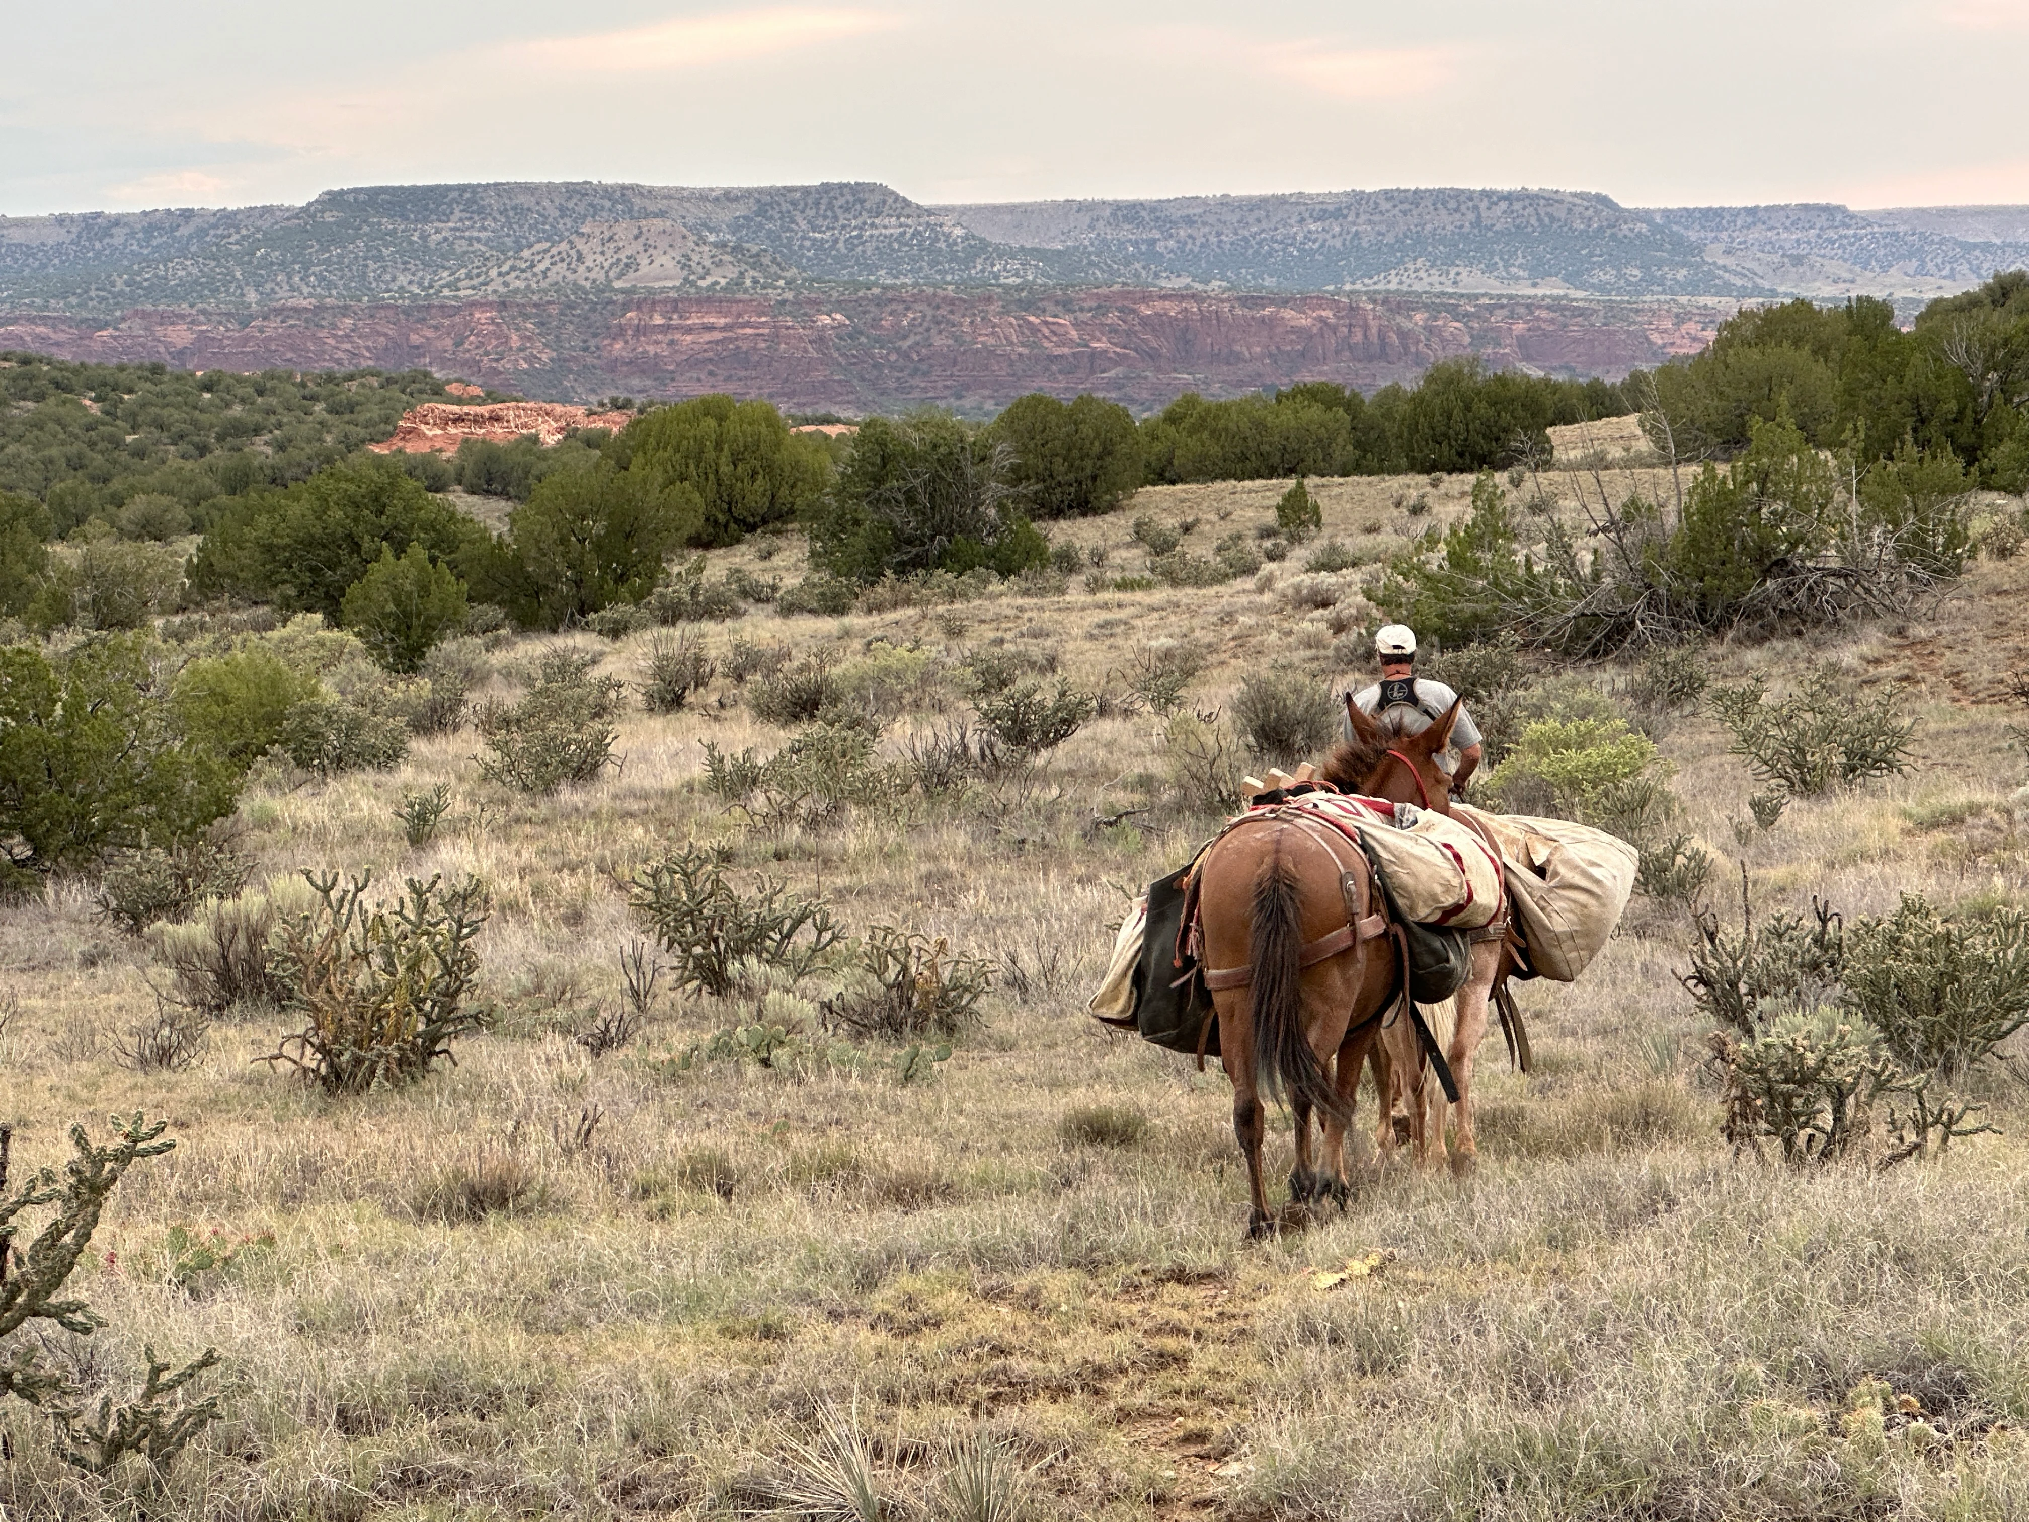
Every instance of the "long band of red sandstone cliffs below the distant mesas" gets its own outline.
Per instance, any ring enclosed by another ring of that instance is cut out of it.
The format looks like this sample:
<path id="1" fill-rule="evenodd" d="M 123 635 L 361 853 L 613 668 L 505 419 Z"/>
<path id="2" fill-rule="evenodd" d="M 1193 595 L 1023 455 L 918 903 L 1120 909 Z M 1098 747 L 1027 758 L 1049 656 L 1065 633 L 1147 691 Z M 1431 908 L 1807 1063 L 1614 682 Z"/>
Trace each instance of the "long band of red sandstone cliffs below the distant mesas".
<path id="1" fill-rule="evenodd" d="M 294 302 L 252 317 L 130 310 L 110 325 L 0 315 L 0 349 L 185 369 L 416 365 L 521 396 L 730 392 L 797 412 L 1000 408 L 1102 392 L 1134 408 L 1333 379 L 1372 390 L 1430 363 L 1617 377 L 1700 349 L 1715 300 L 1177 290 L 870 290 L 834 296 Z"/>

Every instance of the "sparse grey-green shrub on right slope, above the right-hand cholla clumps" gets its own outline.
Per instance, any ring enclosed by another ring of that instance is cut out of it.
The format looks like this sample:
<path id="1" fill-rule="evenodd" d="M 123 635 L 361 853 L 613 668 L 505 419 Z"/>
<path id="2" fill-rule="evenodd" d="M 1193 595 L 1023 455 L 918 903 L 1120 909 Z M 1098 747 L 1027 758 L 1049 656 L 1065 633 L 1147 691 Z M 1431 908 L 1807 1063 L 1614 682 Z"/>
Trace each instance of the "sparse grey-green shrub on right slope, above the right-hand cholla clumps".
<path id="1" fill-rule="evenodd" d="M 1733 753 L 1800 798 L 1909 769 L 1915 720 L 1895 712 L 1895 694 L 1867 698 L 1830 668 L 1814 670 L 1790 698 L 1771 700 L 1755 676 L 1712 688 L 1706 704 L 1733 731 Z"/>

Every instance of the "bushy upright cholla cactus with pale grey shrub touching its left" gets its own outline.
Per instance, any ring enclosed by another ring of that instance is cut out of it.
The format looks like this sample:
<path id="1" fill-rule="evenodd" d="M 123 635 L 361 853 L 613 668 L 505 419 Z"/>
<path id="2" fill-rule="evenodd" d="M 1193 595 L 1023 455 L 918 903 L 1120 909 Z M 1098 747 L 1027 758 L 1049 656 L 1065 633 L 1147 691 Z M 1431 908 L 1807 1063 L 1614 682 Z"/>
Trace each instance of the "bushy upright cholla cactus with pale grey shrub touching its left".
<path id="1" fill-rule="evenodd" d="M 306 1025 L 266 1061 L 327 1094 L 365 1094 L 420 1080 L 457 1039 L 487 1029 L 491 1013 L 469 1002 L 473 938 L 487 921 L 477 879 L 410 879 L 394 905 L 367 903 L 371 873 L 304 881 L 317 903 L 274 927 L 270 964 L 284 1009 Z"/>

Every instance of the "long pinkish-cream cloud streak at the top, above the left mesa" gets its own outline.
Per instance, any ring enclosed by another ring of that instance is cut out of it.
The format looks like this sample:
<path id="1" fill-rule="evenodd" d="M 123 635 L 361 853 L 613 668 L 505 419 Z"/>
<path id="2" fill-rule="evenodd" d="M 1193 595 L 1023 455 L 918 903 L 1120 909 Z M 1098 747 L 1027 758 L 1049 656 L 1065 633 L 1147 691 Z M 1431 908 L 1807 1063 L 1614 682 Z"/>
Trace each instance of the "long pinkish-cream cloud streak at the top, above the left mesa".
<path id="1" fill-rule="evenodd" d="M 668 73 L 838 43 L 895 24 L 895 16 L 877 10 L 773 6 L 676 16 L 617 32 L 530 39 L 495 49 L 493 55 L 544 73 Z"/>

